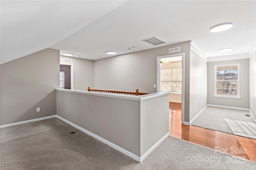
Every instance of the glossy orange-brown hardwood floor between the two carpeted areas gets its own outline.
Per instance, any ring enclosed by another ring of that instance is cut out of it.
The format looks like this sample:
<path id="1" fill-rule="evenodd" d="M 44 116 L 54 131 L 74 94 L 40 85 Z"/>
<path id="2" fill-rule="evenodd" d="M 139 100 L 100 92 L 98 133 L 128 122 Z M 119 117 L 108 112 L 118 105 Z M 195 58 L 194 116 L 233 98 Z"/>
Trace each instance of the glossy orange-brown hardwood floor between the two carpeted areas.
<path id="1" fill-rule="evenodd" d="M 256 140 L 181 123 L 181 103 L 169 104 L 172 137 L 256 162 Z"/>

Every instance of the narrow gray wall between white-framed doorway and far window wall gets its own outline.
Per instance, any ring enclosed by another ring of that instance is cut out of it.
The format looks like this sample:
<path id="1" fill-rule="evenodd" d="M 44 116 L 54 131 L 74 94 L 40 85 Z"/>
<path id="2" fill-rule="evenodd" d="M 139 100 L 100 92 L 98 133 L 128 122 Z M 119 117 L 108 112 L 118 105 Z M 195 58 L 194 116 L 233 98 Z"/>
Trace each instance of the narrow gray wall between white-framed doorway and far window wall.
<path id="1" fill-rule="evenodd" d="M 207 62 L 193 50 L 190 51 L 190 84 L 191 121 L 207 105 Z"/>

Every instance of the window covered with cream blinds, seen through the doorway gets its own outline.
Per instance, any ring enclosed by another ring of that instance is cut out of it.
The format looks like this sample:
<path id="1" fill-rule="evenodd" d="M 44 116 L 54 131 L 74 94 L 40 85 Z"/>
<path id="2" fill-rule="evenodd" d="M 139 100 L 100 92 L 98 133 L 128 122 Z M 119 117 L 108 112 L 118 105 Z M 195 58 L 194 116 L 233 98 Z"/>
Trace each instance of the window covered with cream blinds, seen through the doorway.
<path id="1" fill-rule="evenodd" d="M 160 91 L 182 92 L 182 68 L 160 70 Z"/>

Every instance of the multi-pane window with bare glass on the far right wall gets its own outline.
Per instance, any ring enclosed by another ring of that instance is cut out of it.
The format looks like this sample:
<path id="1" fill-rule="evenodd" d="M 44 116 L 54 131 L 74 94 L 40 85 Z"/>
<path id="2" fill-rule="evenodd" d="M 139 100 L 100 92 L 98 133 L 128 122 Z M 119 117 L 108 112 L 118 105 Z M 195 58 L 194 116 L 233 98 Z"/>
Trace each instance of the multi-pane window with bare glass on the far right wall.
<path id="1" fill-rule="evenodd" d="M 239 65 L 215 66 L 215 95 L 239 96 Z"/>

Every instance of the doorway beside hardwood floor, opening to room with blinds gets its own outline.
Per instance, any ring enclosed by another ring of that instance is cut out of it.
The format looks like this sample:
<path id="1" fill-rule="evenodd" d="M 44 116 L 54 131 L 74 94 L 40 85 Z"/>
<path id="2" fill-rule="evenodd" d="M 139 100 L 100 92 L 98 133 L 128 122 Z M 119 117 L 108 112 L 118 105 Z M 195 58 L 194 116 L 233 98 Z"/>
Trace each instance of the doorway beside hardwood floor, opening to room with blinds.
<path id="1" fill-rule="evenodd" d="M 180 65 L 177 65 L 178 63 L 180 63 Z M 165 78 L 164 79 L 161 78 L 161 74 L 162 74 L 162 77 L 166 76 L 166 80 Z M 181 74 L 181 81 L 178 78 L 178 75 L 180 74 Z M 169 100 L 170 102 L 181 101 L 181 121 L 182 121 L 182 124 L 184 124 L 184 92 L 183 92 L 184 91 L 184 53 L 158 56 L 156 75 L 157 75 L 157 78 L 156 78 L 157 92 L 170 91 L 171 92 L 170 100 Z M 172 78 L 171 76 L 175 76 L 175 77 Z M 179 94 L 181 94 L 181 100 L 178 97 Z"/>

